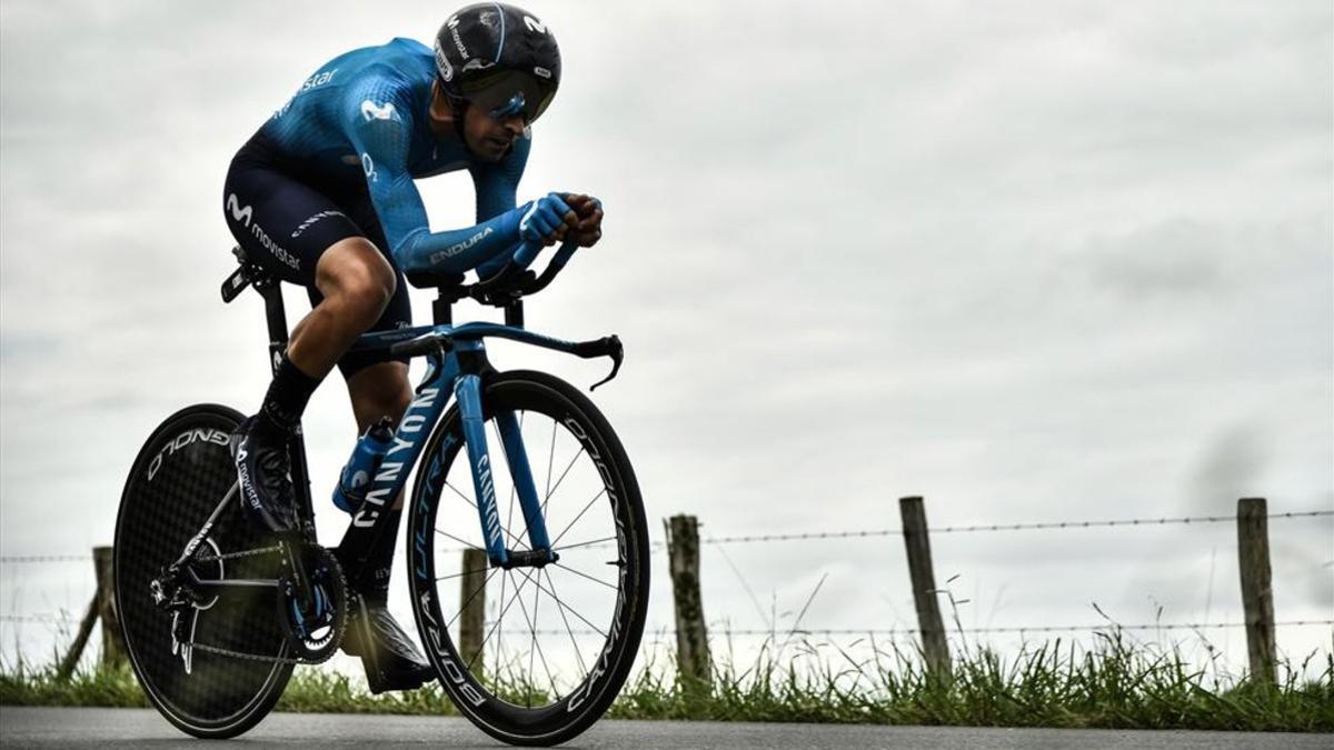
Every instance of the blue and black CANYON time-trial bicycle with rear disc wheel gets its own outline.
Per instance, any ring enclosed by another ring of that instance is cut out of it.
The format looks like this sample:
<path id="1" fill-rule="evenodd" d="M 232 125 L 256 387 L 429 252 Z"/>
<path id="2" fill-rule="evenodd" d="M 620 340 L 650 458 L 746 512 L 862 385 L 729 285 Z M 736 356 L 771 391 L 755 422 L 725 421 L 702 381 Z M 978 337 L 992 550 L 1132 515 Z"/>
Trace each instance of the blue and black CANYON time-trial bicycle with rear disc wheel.
<path id="1" fill-rule="evenodd" d="M 300 428 L 289 443 L 299 539 L 268 536 L 241 514 L 231 456 L 240 412 L 195 404 L 148 438 L 116 520 L 116 606 L 135 675 L 171 723 L 195 737 L 236 737 L 272 710 L 296 665 L 338 650 L 360 621 L 352 591 L 370 573 L 364 555 L 386 526 L 380 510 L 414 467 L 404 544 L 412 613 L 459 711 L 503 742 L 555 745 L 611 705 L 648 603 L 650 547 L 634 470 L 579 390 L 544 372 L 499 372 L 486 352 L 486 339 L 500 338 L 607 356 L 611 374 L 594 388 L 620 370 L 615 335 L 566 342 L 523 327 L 523 298 L 550 284 L 575 247 L 563 246 L 540 276 L 528 270 L 539 250 L 522 246 L 474 284 L 410 275 L 414 286 L 439 290 L 434 324 L 358 340 L 356 350 L 424 356 L 427 372 L 336 547 L 315 536 Z M 240 267 L 223 283 L 223 299 L 245 287 L 260 292 L 276 367 L 288 336 L 279 282 L 240 248 L 232 252 Z M 455 327 L 452 306 L 464 298 L 502 307 L 506 323 Z M 487 610 L 482 602 L 496 578 L 500 595 Z M 518 629 L 504 626 L 507 615 Z"/>

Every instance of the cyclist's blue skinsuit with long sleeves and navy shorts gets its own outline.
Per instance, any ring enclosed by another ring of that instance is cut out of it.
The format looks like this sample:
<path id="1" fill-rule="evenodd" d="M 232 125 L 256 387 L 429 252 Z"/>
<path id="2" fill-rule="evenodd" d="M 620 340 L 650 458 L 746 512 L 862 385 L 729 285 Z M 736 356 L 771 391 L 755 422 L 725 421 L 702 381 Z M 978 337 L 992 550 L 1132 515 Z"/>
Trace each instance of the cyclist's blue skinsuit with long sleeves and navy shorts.
<path id="1" fill-rule="evenodd" d="M 394 267 L 396 287 L 371 331 L 411 326 L 404 272 L 458 275 L 519 246 L 515 190 L 528 160 L 530 133 L 499 161 L 470 155 L 452 133 L 431 131 L 435 80 L 431 49 L 407 39 L 354 49 L 315 72 L 237 151 L 223 187 L 223 215 L 252 262 L 301 284 L 311 304 L 320 255 L 363 236 Z M 468 169 L 478 224 L 431 232 L 414 179 Z M 378 359 L 348 354 L 344 375 Z"/>

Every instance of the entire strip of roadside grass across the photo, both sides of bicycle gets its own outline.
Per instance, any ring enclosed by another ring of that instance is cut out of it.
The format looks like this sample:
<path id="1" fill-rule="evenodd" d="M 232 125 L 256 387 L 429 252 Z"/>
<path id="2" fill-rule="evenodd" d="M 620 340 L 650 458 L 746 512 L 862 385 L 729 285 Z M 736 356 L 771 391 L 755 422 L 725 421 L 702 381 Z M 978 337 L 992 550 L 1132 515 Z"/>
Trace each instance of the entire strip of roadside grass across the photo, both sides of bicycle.
<path id="1" fill-rule="evenodd" d="M 1277 686 L 1193 663 L 1177 645 L 1129 638 L 1115 626 L 1091 647 L 1054 641 L 1003 657 L 956 643 L 952 675 L 931 674 L 922 654 L 872 637 L 846 645 L 791 633 L 754 659 L 715 661 L 711 679 L 678 675 L 670 655 L 646 647 L 608 711 L 627 719 L 708 719 L 956 726 L 1334 731 L 1334 657 L 1282 665 Z M 724 634 L 719 645 L 730 646 Z M 662 645 L 659 645 L 662 646 Z M 731 650 L 727 649 L 730 654 Z M 1303 675 L 1315 674 L 1314 679 Z M 540 694 L 508 685 L 506 693 Z M 128 669 L 93 669 L 68 681 L 51 667 L 0 665 L 0 703 L 148 706 Z M 288 711 L 454 714 L 439 686 L 372 697 L 360 679 L 296 670 L 279 703 Z"/>

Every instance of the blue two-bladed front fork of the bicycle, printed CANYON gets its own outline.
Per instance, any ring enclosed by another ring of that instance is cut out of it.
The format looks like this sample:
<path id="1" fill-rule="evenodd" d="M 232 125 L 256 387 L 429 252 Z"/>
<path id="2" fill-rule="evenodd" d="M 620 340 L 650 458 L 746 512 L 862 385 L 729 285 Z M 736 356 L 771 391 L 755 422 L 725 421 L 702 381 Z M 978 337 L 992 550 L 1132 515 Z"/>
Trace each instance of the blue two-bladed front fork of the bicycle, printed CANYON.
<path id="1" fill-rule="evenodd" d="M 482 414 L 482 376 L 460 375 L 455 382 L 454 395 L 459 400 L 463 442 L 467 446 L 472 488 L 478 498 L 478 514 L 482 519 L 482 538 L 486 539 L 491 565 L 512 569 L 520 566 L 542 567 L 556 562 L 559 555 L 551 550 L 551 540 L 547 536 L 544 508 L 538 499 L 538 487 L 532 483 L 532 470 L 528 466 L 528 452 L 523 447 L 519 419 L 512 411 L 495 414 L 496 427 L 500 431 L 500 444 L 504 450 L 506 463 L 510 466 L 510 478 L 514 480 L 515 491 L 519 495 L 519 507 L 523 508 L 523 520 L 528 528 L 531 550 L 506 547 L 508 532 L 500 522 L 494 463 L 487 452 L 486 419 Z M 514 536 L 511 535 L 511 538 Z"/>

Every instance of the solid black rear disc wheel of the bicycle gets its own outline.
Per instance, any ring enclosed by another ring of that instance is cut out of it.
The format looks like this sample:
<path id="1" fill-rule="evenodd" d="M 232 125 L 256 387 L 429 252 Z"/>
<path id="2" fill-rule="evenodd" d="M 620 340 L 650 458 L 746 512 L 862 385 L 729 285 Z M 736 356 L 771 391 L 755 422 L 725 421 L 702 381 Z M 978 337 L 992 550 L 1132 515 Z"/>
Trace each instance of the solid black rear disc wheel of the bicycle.
<path id="1" fill-rule="evenodd" d="M 231 432 L 241 415 L 196 404 L 169 416 L 139 451 L 116 519 L 116 607 L 125 650 L 148 699 L 181 731 L 201 738 L 236 737 L 272 710 L 292 665 L 192 650 L 191 669 L 173 653 L 172 615 L 159 609 L 149 582 L 176 562 L 185 544 L 236 482 Z M 213 526 L 204 547 L 231 552 L 264 546 L 241 515 L 240 502 Z M 224 578 L 273 578 L 269 555 L 196 563 Z M 216 566 L 216 567 L 215 567 Z M 193 643 L 283 657 L 287 642 L 275 598 L 225 595 L 191 607 Z"/>

